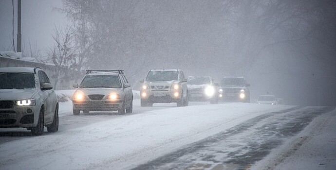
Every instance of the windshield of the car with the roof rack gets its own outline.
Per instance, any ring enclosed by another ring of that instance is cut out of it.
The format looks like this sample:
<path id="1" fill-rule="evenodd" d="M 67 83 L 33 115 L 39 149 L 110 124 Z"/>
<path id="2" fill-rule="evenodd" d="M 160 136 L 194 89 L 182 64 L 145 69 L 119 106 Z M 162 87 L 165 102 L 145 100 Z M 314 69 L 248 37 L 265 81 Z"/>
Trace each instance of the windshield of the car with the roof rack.
<path id="1" fill-rule="evenodd" d="M 87 75 L 79 86 L 80 88 L 121 88 L 119 76 Z"/>

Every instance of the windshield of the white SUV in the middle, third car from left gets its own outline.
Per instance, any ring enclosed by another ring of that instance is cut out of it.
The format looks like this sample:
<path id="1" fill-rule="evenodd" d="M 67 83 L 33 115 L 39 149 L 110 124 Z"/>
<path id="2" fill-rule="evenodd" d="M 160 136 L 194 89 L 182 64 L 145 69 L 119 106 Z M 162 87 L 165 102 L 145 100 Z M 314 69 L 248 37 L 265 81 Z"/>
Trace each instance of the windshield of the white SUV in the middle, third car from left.
<path id="1" fill-rule="evenodd" d="M 147 82 L 169 82 L 178 80 L 177 71 L 150 71 L 147 75 Z"/>

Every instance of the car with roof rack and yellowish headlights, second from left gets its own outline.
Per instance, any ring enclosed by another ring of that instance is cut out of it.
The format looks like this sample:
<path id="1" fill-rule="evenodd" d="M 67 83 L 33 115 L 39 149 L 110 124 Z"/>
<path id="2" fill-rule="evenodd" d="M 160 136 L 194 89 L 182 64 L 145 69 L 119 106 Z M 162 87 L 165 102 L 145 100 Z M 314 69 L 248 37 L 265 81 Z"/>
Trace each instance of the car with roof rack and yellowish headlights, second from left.
<path id="1" fill-rule="evenodd" d="M 118 111 L 132 113 L 133 93 L 123 70 L 87 70 L 80 85 L 73 85 L 73 113 Z"/>

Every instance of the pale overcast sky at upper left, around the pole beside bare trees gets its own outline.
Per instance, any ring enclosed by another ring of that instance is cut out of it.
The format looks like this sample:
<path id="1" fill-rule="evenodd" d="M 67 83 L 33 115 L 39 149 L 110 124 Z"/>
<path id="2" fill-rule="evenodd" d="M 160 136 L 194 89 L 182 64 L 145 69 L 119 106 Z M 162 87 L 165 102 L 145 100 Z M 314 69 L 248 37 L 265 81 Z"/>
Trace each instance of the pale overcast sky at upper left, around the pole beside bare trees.
<path id="1" fill-rule="evenodd" d="M 14 40 L 17 37 L 17 4 L 14 0 Z M 55 26 L 64 27 L 67 23 L 65 14 L 54 8 L 62 7 L 62 0 L 22 0 L 21 34 L 22 50 L 28 49 L 29 42 L 37 44 L 37 49 L 45 55 L 45 48 L 52 46 Z M 12 0 L 0 0 L 0 51 L 12 48 Z M 16 47 L 16 44 L 15 44 Z"/>

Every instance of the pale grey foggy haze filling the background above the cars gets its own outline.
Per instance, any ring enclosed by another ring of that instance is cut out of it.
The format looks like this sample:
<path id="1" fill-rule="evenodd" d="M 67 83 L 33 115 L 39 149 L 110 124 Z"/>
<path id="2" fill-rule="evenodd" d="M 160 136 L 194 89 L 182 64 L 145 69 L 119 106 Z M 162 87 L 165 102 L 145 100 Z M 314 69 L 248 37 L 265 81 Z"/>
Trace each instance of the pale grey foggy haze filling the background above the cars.
<path id="1" fill-rule="evenodd" d="M 11 5 L 0 1 L 0 51 L 11 50 Z M 31 0 L 22 1 L 22 39 L 47 55 L 55 26 L 70 23 L 84 49 L 76 69 L 124 69 L 133 88 L 150 68 L 181 68 L 216 82 L 243 76 L 251 102 L 268 93 L 335 105 L 335 18 L 335 0 Z"/>

